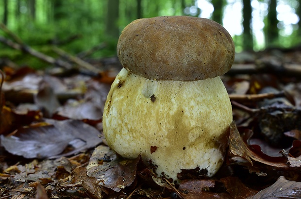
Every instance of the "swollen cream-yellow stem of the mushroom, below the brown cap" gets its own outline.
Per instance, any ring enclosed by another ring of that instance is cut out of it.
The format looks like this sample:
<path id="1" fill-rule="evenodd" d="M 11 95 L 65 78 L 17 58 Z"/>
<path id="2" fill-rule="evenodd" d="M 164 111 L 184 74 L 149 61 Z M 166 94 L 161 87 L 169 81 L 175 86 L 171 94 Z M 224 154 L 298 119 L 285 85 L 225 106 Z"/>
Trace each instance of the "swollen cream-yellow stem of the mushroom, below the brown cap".
<path id="1" fill-rule="evenodd" d="M 103 133 L 124 158 L 139 154 L 158 175 L 177 180 L 182 169 L 214 175 L 227 147 L 232 107 L 220 77 L 155 81 L 123 68 L 108 94 Z"/>

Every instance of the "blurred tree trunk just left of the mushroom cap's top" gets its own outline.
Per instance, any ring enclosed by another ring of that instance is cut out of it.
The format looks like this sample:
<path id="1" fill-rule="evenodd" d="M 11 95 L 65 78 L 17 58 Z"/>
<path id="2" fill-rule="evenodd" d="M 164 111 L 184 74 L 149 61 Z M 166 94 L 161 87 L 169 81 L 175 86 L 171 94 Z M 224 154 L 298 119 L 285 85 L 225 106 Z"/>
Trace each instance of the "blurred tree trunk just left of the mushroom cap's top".
<path id="1" fill-rule="evenodd" d="M 118 38 L 118 17 L 119 17 L 119 0 L 107 1 L 107 20 L 106 20 L 106 33 L 112 37 Z"/>

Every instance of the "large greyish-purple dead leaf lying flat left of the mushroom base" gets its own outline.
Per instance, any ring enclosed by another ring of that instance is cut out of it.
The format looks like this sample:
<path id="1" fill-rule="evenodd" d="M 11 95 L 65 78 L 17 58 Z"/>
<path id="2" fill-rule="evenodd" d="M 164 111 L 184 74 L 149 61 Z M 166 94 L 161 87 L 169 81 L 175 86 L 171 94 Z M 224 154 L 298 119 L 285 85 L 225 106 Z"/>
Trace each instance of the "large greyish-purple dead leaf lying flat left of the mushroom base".
<path id="1" fill-rule="evenodd" d="M 67 156 L 100 144 L 99 131 L 77 120 L 45 120 L 49 125 L 21 128 L 1 136 L 1 145 L 10 153 L 25 158 Z M 73 149 L 60 154 L 71 145 Z"/>

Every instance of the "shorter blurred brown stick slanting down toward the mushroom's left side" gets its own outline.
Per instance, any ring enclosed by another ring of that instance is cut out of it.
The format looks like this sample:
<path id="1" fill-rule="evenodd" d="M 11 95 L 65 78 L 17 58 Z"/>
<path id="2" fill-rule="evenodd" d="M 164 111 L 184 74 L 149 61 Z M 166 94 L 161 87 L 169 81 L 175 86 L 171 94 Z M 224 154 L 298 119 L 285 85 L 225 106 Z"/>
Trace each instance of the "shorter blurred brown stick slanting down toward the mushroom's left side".
<path id="1" fill-rule="evenodd" d="M 95 66 L 85 62 L 84 60 L 78 58 L 78 57 L 75 57 L 75 56 L 72 56 L 70 55 L 69 53 L 65 52 L 64 50 L 62 49 L 59 49 L 55 46 L 52 47 L 52 50 L 55 51 L 57 54 L 63 56 L 63 57 L 66 57 L 68 60 L 78 64 L 79 66 L 82 66 L 84 67 L 85 69 L 93 72 L 93 73 L 96 73 L 96 74 L 99 74 L 100 73 L 100 69 L 96 68 Z"/>

